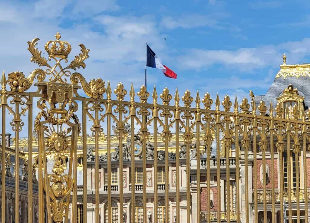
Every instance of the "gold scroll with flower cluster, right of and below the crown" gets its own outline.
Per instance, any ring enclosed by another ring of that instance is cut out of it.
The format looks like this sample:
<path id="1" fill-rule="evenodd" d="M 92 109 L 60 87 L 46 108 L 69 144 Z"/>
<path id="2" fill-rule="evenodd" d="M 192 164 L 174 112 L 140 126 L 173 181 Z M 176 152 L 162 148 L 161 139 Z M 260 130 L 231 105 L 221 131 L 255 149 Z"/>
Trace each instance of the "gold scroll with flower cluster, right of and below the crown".
<path id="1" fill-rule="evenodd" d="M 78 84 L 80 81 L 84 92 L 93 99 L 102 99 L 103 94 L 106 92 L 105 81 L 101 78 L 92 79 L 89 83 L 80 73 L 73 73 L 70 77 L 72 84 Z"/>

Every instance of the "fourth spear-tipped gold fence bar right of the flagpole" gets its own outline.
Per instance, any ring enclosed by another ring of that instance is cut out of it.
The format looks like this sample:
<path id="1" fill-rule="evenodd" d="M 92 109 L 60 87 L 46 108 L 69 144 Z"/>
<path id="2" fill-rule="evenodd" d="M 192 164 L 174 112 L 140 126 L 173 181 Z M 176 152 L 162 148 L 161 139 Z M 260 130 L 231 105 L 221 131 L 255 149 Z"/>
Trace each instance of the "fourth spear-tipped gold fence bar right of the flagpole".
<path id="1" fill-rule="evenodd" d="M 221 120 L 220 120 L 220 112 L 219 112 L 219 94 L 216 96 L 216 120 L 215 120 L 215 131 L 216 131 L 216 183 L 217 183 L 217 194 L 218 194 L 218 209 L 217 209 L 217 222 L 221 222 L 221 169 L 220 169 L 220 139 L 219 139 L 219 131 L 220 131 L 220 125 L 221 125 Z M 210 165 L 207 164 L 207 165 Z M 210 205 L 210 204 L 209 204 Z"/>

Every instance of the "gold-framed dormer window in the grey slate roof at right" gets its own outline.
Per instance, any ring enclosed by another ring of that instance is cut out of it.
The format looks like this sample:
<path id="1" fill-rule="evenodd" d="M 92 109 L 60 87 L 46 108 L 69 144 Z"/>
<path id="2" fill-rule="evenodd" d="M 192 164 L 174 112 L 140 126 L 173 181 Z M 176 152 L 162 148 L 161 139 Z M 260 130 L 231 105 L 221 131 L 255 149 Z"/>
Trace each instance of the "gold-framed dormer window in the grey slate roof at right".
<path id="1" fill-rule="evenodd" d="M 280 94 L 277 98 L 280 106 L 283 108 L 284 114 L 283 117 L 286 118 L 287 115 L 289 118 L 293 118 L 292 110 L 294 106 L 297 106 L 299 111 L 302 111 L 303 108 L 303 100 L 305 97 L 301 96 L 301 92 L 299 92 L 296 88 L 294 89 L 293 85 L 288 85 L 288 87 Z M 286 114 L 286 106 L 289 108 L 289 114 Z M 301 117 L 300 112 L 300 117 Z"/>

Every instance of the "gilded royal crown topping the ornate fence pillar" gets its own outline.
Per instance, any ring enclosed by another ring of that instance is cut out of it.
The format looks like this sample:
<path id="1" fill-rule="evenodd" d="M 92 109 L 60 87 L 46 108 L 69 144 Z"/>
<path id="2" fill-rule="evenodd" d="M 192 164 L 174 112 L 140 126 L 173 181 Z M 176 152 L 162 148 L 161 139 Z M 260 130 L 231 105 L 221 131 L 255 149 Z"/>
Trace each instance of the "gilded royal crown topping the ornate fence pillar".
<path id="1" fill-rule="evenodd" d="M 51 57 L 60 57 L 63 59 L 67 59 L 69 53 L 71 52 L 71 45 L 67 41 L 61 41 L 59 32 L 55 35 L 56 40 L 48 41 L 45 44 L 45 50 L 48 55 Z"/>

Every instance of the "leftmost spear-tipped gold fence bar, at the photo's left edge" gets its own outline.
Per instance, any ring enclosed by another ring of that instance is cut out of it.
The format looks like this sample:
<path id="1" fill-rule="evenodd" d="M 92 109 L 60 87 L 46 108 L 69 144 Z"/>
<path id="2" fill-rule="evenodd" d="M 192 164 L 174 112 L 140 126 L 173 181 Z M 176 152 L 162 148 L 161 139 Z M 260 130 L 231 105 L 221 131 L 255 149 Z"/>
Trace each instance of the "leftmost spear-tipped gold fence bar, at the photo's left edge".
<path id="1" fill-rule="evenodd" d="M 4 72 L 2 75 L 2 80 L 5 81 L 5 76 L 4 76 Z M 6 210 L 6 197 L 5 197 L 5 159 L 6 159 L 6 138 L 5 138 L 5 125 L 6 125 L 6 113 L 5 113 L 5 108 L 7 106 L 7 97 L 6 94 L 3 93 L 3 90 L 5 90 L 5 85 L 2 86 L 2 95 L 1 95 L 1 107 L 2 107 L 2 121 L 4 123 L 2 123 L 2 201 L 1 201 L 1 205 L 2 205 L 2 210 Z M 1 222 L 5 222 L 5 211 L 1 211 Z"/>

